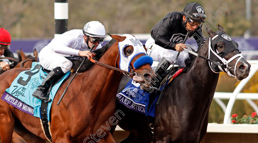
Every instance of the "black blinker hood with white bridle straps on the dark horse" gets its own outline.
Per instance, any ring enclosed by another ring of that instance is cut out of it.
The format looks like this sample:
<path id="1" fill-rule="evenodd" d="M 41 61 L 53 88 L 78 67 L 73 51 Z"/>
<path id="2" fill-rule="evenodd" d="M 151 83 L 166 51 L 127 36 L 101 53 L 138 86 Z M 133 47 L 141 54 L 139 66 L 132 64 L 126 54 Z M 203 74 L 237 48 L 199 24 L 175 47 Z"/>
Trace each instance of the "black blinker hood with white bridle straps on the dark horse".
<path id="1" fill-rule="evenodd" d="M 229 54 L 230 52 L 232 52 L 234 50 L 238 50 L 237 43 L 235 41 L 233 41 L 229 37 L 229 35 L 221 32 L 221 31 L 217 31 L 215 33 L 217 33 L 217 35 L 214 36 L 213 38 L 209 39 L 209 59 L 216 61 L 216 62 L 220 62 L 220 63 L 222 62 L 223 64 L 226 65 L 226 68 L 212 64 L 211 62 L 209 62 L 209 66 L 214 73 L 219 73 L 222 71 L 222 72 L 227 73 L 229 77 L 235 77 L 233 74 L 231 74 L 229 72 L 229 69 L 231 69 L 231 67 L 228 66 L 228 63 L 233 61 L 235 58 L 239 57 L 236 61 L 236 64 L 237 64 L 239 62 L 239 60 L 244 57 L 242 56 L 242 54 L 236 54 L 229 60 L 226 60 L 224 58 L 225 55 Z M 218 53 L 218 51 L 215 49 L 215 45 L 218 42 L 225 43 L 225 47 L 227 47 L 227 48 L 225 48 L 223 52 Z M 235 65 L 234 73 L 236 74 L 236 65 Z"/>

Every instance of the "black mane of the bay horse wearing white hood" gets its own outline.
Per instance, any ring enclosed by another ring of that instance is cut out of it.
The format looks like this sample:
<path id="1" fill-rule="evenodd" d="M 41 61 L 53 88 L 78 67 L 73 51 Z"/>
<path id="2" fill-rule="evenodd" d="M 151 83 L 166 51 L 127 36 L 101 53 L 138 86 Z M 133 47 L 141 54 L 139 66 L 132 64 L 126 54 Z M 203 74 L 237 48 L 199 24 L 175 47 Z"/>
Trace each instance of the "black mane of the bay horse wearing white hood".
<path id="1" fill-rule="evenodd" d="M 102 48 L 97 49 L 96 51 L 94 51 L 96 56 L 93 57 L 93 60 L 98 60 L 106 52 L 106 50 L 108 50 L 108 48 L 111 47 L 115 42 L 116 42 L 115 39 L 111 39 L 111 41 L 108 42 L 105 46 L 103 46 Z M 84 57 L 80 57 L 78 60 L 71 61 L 72 62 L 72 71 L 76 71 L 78 69 L 78 67 L 80 66 L 83 59 L 84 59 Z M 78 72 L 83 72 L 85 70 L 88 70 L 93 64 L 94 63 L 91 62 L 87 58 Z"/>

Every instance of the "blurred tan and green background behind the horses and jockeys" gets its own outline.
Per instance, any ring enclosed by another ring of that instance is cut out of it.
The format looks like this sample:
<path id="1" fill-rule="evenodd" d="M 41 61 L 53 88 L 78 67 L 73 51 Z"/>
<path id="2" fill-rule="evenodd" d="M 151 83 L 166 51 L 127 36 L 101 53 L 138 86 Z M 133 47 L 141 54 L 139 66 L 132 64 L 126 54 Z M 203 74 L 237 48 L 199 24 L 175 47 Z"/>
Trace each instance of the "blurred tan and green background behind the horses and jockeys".
<path id="1" fill-rule="evenodd" d="M 256 0 L 68 0 L 68 30 L 82 29 L 89 21 L 100 21 L 109 34 L 143 34 L 150 37 L 152 27 L 166 14 L 181 12 L 189 2 L 197 2 L 205 9 L 205 24 L 213 31 L 223 26 L 238 44 L 247 60 L 258 58 L 258 1 Z M 39 52 L 55 34 L 54 0 L 1 0 L 0 28 L 12 37 L 10 50 L 25 53 Z M 208 36 L 203 30 L 205 37 Z M 241 92 L 257 93 L 255 75 Z M 233 92 L 239 81 L 220 73 L 217 92 Z M 227 105 L 229 100 L 222 100 Z M 256 102 L 256 101 L 254 101 Z M 257 104 L 257 102 L 256 102 Z M 232 114 L 250 115 L 254 109 L 244 100 L 237 100 Z M 209 122 L 222 123 L 224 112 L 212 102 Z"/>

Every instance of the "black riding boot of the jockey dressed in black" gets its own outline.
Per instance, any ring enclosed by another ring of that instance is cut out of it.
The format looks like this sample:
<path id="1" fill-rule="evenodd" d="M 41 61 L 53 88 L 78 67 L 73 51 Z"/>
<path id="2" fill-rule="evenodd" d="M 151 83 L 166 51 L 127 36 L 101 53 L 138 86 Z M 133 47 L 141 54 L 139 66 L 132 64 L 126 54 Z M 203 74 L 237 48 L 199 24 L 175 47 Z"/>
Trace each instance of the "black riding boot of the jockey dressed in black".
<path id="1" fill-rule="evenodd" d="M 154 73 L 156 73 L 156 75 L 158 74 L 159 77 L 162 77 L 163 73 L 167 73 L 168 70 L 167 68 L 171 65 L 171 63 L 166 60 L 165 57 L 163 57 L 160 62 L 158 63 L 158 66 L 156 66 Z"/>

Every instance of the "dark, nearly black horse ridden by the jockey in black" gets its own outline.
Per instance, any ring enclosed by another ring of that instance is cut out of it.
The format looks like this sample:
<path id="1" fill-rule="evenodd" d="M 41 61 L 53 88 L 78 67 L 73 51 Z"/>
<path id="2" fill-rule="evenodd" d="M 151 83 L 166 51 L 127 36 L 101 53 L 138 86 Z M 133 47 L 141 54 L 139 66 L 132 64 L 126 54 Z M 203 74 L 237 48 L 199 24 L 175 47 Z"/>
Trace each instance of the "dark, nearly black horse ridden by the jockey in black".
<path id="1" fill-rule="evenodd" d="M 220 25 L 218 25 L 218 30 L 221 32 L 214 33 L 212 30 L 206 30 L 209 31 L 209 39 L 199 49 L 199 55 L 209 58 L 209 40 L 221 39 L 223 36 L 218 33 L 223 32 L 225 40 L 217 41 L 214 49 L 219 55 L 226 54 L 224 59 L 229 62 L 227 67 L 230 73 L 228 74 L 236 76 L 238 80 L 246 78 L 251 65 L 244 58 L 235 56 L 240 54 L 238 46 L 235 49 L 231 47 L 230 43 L 234 41 L 225 34 Z M 190 54 L 190 56 L 193 55 Z M 148 118 L 144 114 L 128 109 L 117 102 L 116 109 L 125 113 L 118 125 L 130 132 L 128 137 L 120 143 L 201 142 L 207 131 L 209 107 L 218 77 L 219 73 L 211 70 L 208 61 L 195 58 L 186 73 L 181 73 L 166 86 L 160 105 L 155 106 L 153 137 Z M 128 81 L 126 77 L 122 78 L 118 93 L 124 89 Z"/>

